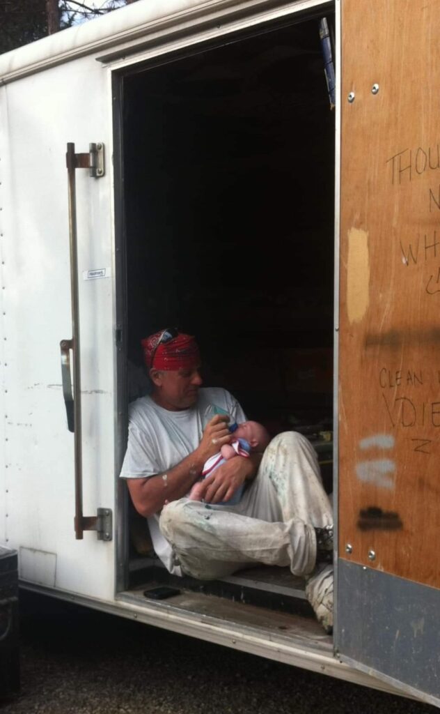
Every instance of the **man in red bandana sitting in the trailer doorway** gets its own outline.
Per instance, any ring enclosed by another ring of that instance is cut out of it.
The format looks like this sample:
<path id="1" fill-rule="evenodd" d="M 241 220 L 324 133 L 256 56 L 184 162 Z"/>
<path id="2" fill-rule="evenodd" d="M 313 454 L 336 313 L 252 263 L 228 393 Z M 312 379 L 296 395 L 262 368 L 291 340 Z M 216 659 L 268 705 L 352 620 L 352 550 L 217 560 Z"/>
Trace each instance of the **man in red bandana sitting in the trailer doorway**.
<path id="1" fill-rule="evenodd" d="M 152 392 L 130 406 L 121 477 L 158 557 L 170 573 L 202 580 L 289 565 L 307 580 L 307 599 L 330 632 L 333 514 L 311 444 L 279 434 L 263 455 L 222 464 L 200 484 L 203 501 L 191 500 L 205 461 L 232 441 L 227 423 L 246 421 L 245 413 L 225 389 L 202 388 L 193 336 L 170 328 L 142 344 Z M 243 484 L 239 503 L 218 505 Z"/>

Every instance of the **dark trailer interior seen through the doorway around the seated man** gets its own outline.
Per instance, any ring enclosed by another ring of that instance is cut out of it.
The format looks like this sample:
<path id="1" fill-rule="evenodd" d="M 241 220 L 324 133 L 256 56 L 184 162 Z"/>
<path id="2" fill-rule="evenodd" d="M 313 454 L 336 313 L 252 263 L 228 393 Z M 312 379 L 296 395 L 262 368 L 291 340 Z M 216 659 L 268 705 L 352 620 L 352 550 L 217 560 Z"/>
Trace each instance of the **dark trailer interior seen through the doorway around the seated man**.
<path id="1" fill-rule="evenodd" d="M 198 338 L 205 386 L 272 436 L 311 439 L 330 492 L 334 111 L 319 17 L 192 51 L 121 83 L 128 399 L 143 393 L 140 339 L 178 326 Z M 232 598 L 317 625 L 287 568 L 173 578 L 128 513 L 131 593 L 177 582 L 176 606 L 208 593 L 211 611 Z"/>

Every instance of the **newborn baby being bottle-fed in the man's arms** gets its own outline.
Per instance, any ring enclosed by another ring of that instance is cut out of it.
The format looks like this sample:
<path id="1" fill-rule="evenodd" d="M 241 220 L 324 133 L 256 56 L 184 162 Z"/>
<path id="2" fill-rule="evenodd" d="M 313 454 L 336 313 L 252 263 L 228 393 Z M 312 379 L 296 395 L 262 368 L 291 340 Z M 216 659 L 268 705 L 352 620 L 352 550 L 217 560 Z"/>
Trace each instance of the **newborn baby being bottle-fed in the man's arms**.
<path id="1" fill-rule="evenodd" d="M 229 444 L 223 444 L 220 451 L 208 458 L 208 461 L 205 462 L 202 478 L 191 488 L 188 498 L 192 501 L 201 501 L 200 491 L 203 479 L 210 476 L 220 464 L 225 463 L 225 461 L 234 456 L 245 456 L 245 458 L 248 458 L 250 453 L 263 453 L 269 442 L 270 436 L 262 424 L 257 421 L 243 421 L 235 429 L 233 441 Z M 216 503 L 215 506 L 236 506 L 242 497 L 244 486 L 245 484 L 243 483 L 240 488 L 237 488 L 237 491 L 235 491 L 229 501 Z"/>

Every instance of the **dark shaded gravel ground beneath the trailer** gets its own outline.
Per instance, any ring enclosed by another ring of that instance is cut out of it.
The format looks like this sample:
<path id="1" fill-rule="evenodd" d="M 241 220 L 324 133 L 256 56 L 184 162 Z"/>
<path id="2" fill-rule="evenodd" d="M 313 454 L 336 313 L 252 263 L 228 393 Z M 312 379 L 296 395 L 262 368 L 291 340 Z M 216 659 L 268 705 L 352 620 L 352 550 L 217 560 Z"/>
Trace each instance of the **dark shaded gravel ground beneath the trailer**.
<path id="1" fill-rule="evenodd" d="M 21 695 L 1 714 L 434 714 L 429 705 L 103 615 L 21 600 Z"/>

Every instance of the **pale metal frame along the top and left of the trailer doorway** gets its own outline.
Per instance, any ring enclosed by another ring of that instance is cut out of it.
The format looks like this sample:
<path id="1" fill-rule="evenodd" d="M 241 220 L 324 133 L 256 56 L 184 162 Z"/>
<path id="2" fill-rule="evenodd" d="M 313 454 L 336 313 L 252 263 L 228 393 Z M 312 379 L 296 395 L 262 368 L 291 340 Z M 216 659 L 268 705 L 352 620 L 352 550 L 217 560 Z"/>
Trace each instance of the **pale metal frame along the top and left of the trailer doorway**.
<path id="1" fill-rule="evenodd" d="M 313 16 L 321 15 L 326 10 L 334 11 L 334 0 L 293 0 L 287 6 L 272 7 L 272 4 L 244 3 L 223 9 L 224 19 L 216 14 L 215 29 L 208 23 L 208 29 L 200 31 L 195 19 L 186 28 L 185 34 L 178 39 L 170 39 L 169 27 L 165 24 L 160 37 L 154 35 L 150 41 L 144 39 L 142 51 L 139 45 L 112 51 L 98 57 L 98 61 L 108 65 L 112 86 L 113 112 L 113 174 L 114 174 L 114 209 L 115 209 L 115 332 L 116 332 L 116 370 L 115 370 L 115 473 L 121 471 L 126 451 L 128 433 L 128 389 L 127 389 L 127 294 L 126 294 L 126 230 L 123 207 L 123 78 L 126 74 L 143 71 L 148 67 L 176 61 L 180 56 L 205 51 L 210 46 L 218 46 L 222 41 L 238 39 L 250 32 L 269 31 L 289 22 L 301 22 Z M 150 46 L 151 45 L 151 46 Z M 148 49 L 145 49 L 148 46 Z M 133 55 L 131 53 L 134 53 Z M 121 59 L 123 54 L 123 59 Z M 323 66 L 324 73 L 324 66 Z M 126 590 L 128 585 L 128 533 L 127 513 L 128 496 L 126 486 L 116 479 L 116 593 Z"/>

